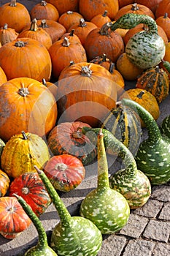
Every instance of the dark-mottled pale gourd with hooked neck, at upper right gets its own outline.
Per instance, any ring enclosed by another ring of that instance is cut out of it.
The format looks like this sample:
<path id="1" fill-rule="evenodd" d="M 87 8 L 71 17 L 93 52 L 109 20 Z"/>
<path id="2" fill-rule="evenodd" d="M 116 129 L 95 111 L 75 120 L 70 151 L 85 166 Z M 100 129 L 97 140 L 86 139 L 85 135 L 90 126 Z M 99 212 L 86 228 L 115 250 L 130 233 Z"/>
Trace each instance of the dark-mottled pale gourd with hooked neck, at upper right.
<path id="1" fill-rule="evenodd" d="M 165 44 L 158 35 L 155 20 L 148 15 L 127 13 L 113 23 L 110 29 L 132 29 L 140 23 L 147 25 L 148 31 L 134 34 L 125 46 L 125 53 L 137 67 L 148 69 L 158 65 L 165 55 Z"/>

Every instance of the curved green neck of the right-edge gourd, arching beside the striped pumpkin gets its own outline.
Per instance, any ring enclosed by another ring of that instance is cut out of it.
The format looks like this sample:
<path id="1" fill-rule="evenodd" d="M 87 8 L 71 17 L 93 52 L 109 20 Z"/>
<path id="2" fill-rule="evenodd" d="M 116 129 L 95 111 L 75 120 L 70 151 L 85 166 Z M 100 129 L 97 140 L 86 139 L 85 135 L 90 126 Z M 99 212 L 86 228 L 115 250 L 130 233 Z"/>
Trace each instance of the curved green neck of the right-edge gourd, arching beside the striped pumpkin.
<path id="1" fill-rule="evenodd" d="M 155 145 L 155 143 L 157 143 L 158 140 L 162 137 L 158 124 L 156 123 L 152 115 L 145 108 L 143 108 L 142 105 L 139 105 L 139 103 L 135 102 L 134 100 L 124 98 L 121 99 L 121 104 L 135 110 L 135 112 L 139 115 L 142 121 L 144 121 L 144 124 L 146 124 L 148 132 L 147 141 Z"/>

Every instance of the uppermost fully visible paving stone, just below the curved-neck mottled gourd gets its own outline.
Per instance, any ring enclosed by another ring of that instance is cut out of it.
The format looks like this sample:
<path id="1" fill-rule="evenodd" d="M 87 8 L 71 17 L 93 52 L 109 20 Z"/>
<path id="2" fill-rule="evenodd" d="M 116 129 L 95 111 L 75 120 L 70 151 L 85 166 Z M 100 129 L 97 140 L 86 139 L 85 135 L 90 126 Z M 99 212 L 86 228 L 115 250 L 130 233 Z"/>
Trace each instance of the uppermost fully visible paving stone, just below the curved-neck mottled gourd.
<path id="1" fill-rule="evenodd" d="M 134 214 L 139 214 L 148 218 L 155 218 L 161 211 L 163 203 L 158 200 L 148 200 L 144 206 L 134 210 Z"/>

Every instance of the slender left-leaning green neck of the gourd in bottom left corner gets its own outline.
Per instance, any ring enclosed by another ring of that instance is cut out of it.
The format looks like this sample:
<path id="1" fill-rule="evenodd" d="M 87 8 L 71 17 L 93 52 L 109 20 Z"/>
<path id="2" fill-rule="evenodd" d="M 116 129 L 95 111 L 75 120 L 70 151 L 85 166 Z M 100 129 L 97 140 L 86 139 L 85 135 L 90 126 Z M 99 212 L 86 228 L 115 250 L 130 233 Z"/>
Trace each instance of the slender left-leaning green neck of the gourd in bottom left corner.
<path id="1" fill-rule="evenodd" d="M 36 230 L 39 234 L 39 246 L 45 247 L 48 246 L 47 243 L 47 234 L 45 233 L 45 229 L 42 226 L 42 222 L 40 222 L 39 218 L 34 214 L 34 211 L 32 211 L 31 206 L 26 203 L 26 200 L 23 199 L 23 197 L 13 194 L 13 196 L 17 197 L 18 202 L 23 207 L 23 210 L 26 211 L 26 214 L 28 214 L 28 217 L 31 219 L 31 221 L 34 223 L 34 226 L 36 227 Z"/>

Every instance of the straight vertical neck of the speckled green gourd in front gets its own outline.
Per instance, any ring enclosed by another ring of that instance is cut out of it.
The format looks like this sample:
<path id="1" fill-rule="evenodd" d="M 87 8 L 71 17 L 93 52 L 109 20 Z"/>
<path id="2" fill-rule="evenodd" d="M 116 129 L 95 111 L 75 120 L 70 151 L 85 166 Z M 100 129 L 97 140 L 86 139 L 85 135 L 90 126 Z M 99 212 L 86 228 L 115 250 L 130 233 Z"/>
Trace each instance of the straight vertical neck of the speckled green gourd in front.
<path id="1" fill-rule="evenodd" d="M 109 187 L 108 164 L 105 157 L 104 135 L 102 129 L 98 132 L 98 189 L 105 189 Z"/>

